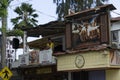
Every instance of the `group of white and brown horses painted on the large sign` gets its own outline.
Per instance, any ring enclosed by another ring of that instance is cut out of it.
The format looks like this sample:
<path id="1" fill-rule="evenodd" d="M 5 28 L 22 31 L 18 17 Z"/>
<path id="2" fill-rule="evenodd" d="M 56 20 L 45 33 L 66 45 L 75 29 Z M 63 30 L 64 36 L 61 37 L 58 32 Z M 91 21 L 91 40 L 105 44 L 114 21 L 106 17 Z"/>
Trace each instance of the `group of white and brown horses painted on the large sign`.
<path id="1" fill-rule="evenodd" d="M 100 25 L 94 20 L 92 22 L 83 22 L 82 24 L 73 23 L 72 33 L 79 34 L 80 41 L 92 41 L 100 39 Z"/>

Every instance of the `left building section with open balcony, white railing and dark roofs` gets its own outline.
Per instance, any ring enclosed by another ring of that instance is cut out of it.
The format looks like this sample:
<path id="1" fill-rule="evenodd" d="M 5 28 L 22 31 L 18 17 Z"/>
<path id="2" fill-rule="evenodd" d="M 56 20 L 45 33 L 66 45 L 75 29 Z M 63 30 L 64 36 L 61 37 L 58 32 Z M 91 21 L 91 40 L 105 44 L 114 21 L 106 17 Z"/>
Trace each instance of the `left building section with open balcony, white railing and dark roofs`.
<path id="1" fill-rule="evenodd" d="M 32 37 L 43 37 L 41 39 L 27 43 L 33 49 L 26 54 L 19 56 L 19 61 L 14 62 L 12 69 L 21 76 L 20 80 L 62 80 L 66 73 L 57 71 L 57 63 L 53 51 L 45 49 L 47 39 L 54 40 L 54 52 L 62 51 L 65 48 L 61 45 L 65 40 L 65 22 L 52 21 L 35 28 L 24 29 L 27 35 Z M 22 47 L 22 45 L 20 45 Z M 17 65 L 16 65 L 17 64 Z M 16 80 L 15 76 L 12 80 Z"/>

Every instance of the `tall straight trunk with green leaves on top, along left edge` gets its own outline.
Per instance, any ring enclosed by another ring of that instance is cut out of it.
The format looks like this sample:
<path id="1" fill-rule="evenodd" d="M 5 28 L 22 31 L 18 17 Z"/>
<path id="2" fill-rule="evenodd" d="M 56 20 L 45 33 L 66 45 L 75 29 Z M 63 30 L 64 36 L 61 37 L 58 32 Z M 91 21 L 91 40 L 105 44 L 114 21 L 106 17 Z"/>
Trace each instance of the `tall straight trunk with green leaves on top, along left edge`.
<path id="1" fill-rule="evenodd" d="M 2 53 L 1 53 L 1 63 L 2 67 L 6 66 L 5 63 L 5 56 L 6 56 L 6 28 L 7 28 L 7 8 L 10 4 L 10 2 L 13 0 L 0 0 L 0 19 L 2 22 Z"/>

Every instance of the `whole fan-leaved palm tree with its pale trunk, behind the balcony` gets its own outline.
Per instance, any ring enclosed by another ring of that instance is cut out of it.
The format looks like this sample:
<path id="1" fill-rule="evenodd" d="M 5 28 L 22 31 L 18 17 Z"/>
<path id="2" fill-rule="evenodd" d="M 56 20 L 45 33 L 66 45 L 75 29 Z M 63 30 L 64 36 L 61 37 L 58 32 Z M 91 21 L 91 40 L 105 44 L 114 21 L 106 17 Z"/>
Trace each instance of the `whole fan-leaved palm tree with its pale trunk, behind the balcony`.
<path id="1" fill-rule="evenodd" d="M 11 31 L 13 35 L 21 36 L 23 39 L 23 53 L 26 51 L 26 40 L 25 32 L 22 31 L 23 28 L 31 28 L 37 26 L 36 18 L 38 15 L 35 13 L 35 9 L 32 8 L 32 5 L 28 3 L 22 3 L 20 7 L 16 7 L 14 12 L 18 14 L 16 18 L 11 19 L 11 22 L 14 25 L 13 30 Z M 24 37 L 23 37 L 24 36 Z"/>

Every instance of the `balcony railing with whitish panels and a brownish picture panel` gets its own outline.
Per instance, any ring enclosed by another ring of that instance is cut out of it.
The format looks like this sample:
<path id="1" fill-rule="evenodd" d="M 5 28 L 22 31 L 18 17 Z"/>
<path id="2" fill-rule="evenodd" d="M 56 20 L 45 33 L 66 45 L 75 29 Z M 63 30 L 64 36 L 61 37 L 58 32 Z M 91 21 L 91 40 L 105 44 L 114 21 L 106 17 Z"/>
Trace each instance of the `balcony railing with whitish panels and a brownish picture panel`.
<path id="1" fill-rule="evenodd" d="M 13 62 L 13 68 L 24 65 L 52 65 L 56 64 L 56 59 L 52 56 L 53 51 L 48 50 L 34 50 L 27 54 L 19 55 L 18 63 Z"/>

